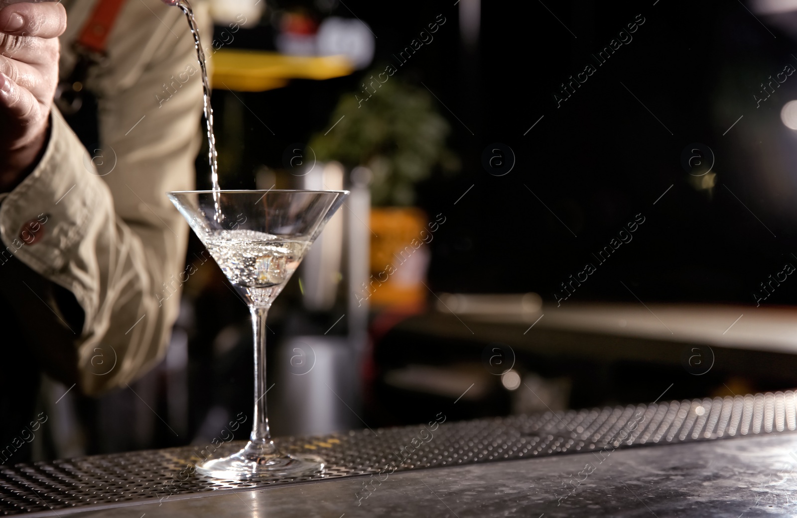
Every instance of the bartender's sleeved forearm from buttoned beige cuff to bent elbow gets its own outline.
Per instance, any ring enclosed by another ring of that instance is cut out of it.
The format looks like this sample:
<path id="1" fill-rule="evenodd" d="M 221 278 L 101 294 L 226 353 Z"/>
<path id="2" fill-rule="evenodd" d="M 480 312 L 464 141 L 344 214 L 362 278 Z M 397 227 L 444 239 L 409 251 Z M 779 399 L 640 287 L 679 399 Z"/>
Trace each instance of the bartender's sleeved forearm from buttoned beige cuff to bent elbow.
<path id="1" fill-rule="evenodd" d="M 168 226 L 153 220 L 128 225 L 116 214 L 108 186 L 57 111 L 41 162 L 0 205 L 0 279 L 10 281 L 14 255 L 72 292 L 83 310 L 73 341 L 34 346 L 76 348 L 87 393 L 135 379 L 165 352 L 179 296 L 159 298 L 179 271 L 187 231 L 176 217 Z M 43 232 L 36 240 L 26 239 L 32 221 Z"/>

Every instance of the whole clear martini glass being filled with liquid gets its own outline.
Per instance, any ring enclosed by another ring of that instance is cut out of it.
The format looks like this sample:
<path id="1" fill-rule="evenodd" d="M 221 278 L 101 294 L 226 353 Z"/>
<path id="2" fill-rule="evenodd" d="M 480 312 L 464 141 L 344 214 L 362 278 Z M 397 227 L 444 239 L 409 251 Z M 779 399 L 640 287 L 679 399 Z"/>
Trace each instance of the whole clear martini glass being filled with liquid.
<path id="1" fill-rule="evenodd" d="M 265 405 L 265 317 L 347 195 L 348 191 L 288 190 L 168 193 L 252 314 L 252 434 L 243 450 L 202 462 L 198 473 L 226 480 L 264 480 L 324 469 L 324 459 L 281 452 L 271 440 Z"/>

